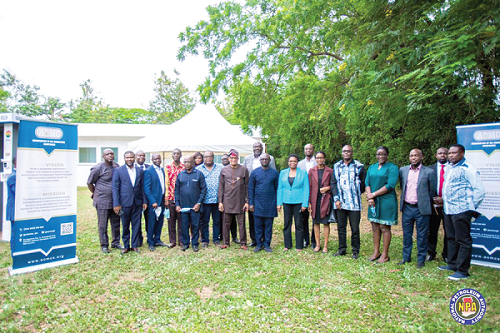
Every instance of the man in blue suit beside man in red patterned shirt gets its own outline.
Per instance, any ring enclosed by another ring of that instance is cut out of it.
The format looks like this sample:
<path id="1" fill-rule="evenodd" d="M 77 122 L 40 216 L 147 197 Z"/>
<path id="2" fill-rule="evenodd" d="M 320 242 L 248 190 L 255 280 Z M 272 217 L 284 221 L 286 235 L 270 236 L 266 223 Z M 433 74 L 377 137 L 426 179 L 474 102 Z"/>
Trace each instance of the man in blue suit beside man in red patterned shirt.
<path id="1" fill-rule="evenodd" d="M 155 246 L 167 246 L 160 239 L 165 212 L 165 172 L 161 167 L 160 154 L 153 154 L 152 160 L 153 166 L 144 172 L 144 194 L 148 199 L 146 231 L 150 251 L 154 251 Z"/>

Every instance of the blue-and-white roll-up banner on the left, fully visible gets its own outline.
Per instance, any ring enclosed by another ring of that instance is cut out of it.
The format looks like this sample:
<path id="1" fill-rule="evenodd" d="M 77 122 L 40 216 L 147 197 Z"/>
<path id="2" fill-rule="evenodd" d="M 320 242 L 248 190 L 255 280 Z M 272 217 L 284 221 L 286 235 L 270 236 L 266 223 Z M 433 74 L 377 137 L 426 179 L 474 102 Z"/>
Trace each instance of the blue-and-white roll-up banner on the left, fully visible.
<path id="1" fill-rule="evenodd" d="M 77 161 L 76 125 L 21 120 L 11 275 L 78 262 Z"/>

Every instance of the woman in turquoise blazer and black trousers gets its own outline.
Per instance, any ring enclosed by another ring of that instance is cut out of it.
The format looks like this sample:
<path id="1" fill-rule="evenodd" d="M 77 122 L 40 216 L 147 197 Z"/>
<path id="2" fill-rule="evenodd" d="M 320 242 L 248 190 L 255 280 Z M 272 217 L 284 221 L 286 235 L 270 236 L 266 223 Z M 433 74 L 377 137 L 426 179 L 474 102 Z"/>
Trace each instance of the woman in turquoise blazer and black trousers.
<path id="1" fill-rule="evenodd" d="M 295 154 L 288 156 L 288 169 L 280 172 L 278 183 L 278 212 L 283 213 L 285 226 L 285 251 L 292 248 L 292 216 L 295 220 L 295 247 L 301 251 L 304 248 L 304 229 L 300 212 L 305 211 L 309 204 L 309 177 L 307 173 L 297 168 L 299 157 Z"/>

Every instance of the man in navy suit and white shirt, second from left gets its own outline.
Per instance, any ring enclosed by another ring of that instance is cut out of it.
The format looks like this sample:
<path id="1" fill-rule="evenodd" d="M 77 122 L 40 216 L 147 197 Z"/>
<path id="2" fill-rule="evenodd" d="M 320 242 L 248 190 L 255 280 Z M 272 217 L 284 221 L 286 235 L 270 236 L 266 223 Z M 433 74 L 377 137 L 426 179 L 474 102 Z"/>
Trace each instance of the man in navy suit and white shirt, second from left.
<path id="1" fill-rule="evenodd" d="M 125 249 L 130 248 L 130 225 L 132 225 L 132 250 L 139 253 L 139 231 L 141 230 L 141 212 L 146 209 L 144 196 L 144 171 L 134 165 L 135 154 L 125 152 L 125 165 L 113 173 L 113 210 L 122 218 L 122 240 Z"/>

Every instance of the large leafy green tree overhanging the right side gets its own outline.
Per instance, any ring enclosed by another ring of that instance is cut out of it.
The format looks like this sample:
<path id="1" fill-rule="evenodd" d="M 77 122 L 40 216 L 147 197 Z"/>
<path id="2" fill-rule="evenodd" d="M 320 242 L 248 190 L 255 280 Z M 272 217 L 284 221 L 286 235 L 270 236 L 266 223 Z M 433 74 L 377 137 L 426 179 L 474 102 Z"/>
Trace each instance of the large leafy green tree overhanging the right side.
<path id="1" fill-rule="evenodd" d="M 180 34 L 178 58 L 207 58 L 202 101 L 222 89 L 277 157 L 311 142 L 333 161 L 350 143 L 365 163 L 380 145 L 400 165 L 419 147 L 428 163 L 456 125 L 499 120 L 497 1 L 248 0 L 207 12 Z"/>

